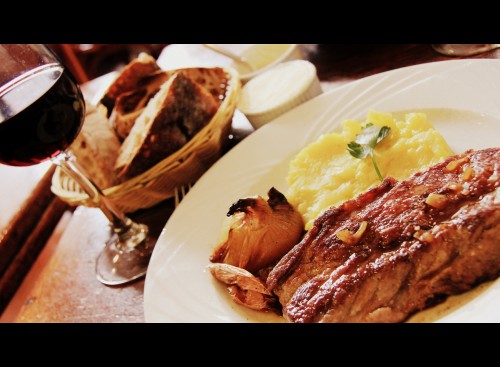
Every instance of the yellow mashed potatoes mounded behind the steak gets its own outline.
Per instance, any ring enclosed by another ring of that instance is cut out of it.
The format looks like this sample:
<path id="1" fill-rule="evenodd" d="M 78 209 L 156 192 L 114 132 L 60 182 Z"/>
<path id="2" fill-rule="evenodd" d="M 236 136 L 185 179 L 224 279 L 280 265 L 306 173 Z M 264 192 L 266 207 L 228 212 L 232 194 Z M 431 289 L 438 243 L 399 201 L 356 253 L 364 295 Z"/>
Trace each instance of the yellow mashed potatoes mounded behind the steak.
<path id="1" fill-rule="evenodd" d="M 347 151 L 347 144 L 370 122 L 391 128 L 374 152 L 383 177 L 404 180 L 454 154 L 423 113 L 409 113 L 397 121 L 392 114 L 370 111 L 364 123 L 344 121 L 341 132 L 322 135 L 290 162 L 286 197 L 304 217 L 306 229 L 325 209 L 380 183 L 369 157 L 356 159 Z"/>

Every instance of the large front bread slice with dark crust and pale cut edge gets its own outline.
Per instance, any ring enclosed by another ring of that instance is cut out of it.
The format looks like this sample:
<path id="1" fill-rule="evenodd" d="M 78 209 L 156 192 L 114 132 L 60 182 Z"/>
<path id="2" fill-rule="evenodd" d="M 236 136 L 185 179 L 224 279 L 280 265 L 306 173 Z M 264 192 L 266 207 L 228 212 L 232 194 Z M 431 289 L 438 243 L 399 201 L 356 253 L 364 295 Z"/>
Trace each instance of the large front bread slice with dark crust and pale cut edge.
<path id="1" fill-rule="evenodd" d="M 119 151 L 121 179 L 135 177 L 181 148 L 212 118 L 218 101 L 183 73 L 174 73 L 148 102 Z"/>

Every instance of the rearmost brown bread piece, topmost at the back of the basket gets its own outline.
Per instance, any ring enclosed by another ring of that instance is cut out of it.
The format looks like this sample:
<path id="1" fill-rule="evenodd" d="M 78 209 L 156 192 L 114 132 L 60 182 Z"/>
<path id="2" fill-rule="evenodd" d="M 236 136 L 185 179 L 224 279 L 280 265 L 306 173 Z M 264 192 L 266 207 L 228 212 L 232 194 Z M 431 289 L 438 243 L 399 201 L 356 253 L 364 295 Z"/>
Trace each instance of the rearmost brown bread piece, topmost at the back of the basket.
<path id="1" fill-rule="evenodd" d="M 135 90 L 142 78 L 158 70 L 160 70 L 160 67 L 154 57 L 144 52 L 141 52 L 137 58 L 129 62 L 111 83 L 100 101 L 108 109 L 108 116 L 115 106 L 116 99 L 121 94 Z"/>

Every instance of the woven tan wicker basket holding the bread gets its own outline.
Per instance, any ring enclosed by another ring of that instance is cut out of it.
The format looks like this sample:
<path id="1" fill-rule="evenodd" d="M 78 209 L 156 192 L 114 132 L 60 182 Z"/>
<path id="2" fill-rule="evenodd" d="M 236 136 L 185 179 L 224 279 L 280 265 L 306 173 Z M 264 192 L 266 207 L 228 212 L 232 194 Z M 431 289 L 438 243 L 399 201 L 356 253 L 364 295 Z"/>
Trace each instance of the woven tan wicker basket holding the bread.
<path id="1" fill-rule="evenodd" d="M 146 172 L 103 190 L 121 210 L 133 212 L 173 197 L 176 187 L 194 183 L 220 157 L 241 86 L 235 70 L 224 70 L 229 77 L 226 97 L 212 120 L 198 134 Z M 95 206 L 80 186 L 59 167 L 52 177 L 51 190 L 70 205 Z"/>

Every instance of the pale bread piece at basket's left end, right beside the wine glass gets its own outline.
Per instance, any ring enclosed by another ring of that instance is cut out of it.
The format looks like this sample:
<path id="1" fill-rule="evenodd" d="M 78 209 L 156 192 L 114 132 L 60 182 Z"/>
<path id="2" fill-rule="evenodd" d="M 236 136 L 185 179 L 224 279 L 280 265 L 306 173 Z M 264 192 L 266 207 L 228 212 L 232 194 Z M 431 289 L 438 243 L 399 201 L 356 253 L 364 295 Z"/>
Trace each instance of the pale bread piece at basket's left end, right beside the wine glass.
<path id="1" fill-rule="evenodd" d="M 110 162 L 116 160 L 120 142 L 108 126 L 106 108 L 96 108 L 89 102 L 86 104 L 87 113 L 82 130 L 70 149 L 88 177 L 99 188 L 105 189 L 118 183 Z"/>

